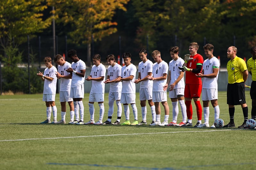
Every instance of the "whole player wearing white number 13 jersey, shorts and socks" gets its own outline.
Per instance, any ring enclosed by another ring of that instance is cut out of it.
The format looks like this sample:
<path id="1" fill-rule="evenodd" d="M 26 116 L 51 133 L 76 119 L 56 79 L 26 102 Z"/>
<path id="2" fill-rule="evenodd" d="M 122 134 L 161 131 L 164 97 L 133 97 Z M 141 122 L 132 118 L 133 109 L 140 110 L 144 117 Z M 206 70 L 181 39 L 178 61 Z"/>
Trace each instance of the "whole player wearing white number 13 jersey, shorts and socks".
<path id="1" fill-rule="evenodd" d="M 105 75 L 106 68 L 100 63 L 101 56 L 99 54 L 93 55 L 93 63 L 92 70 L 90 76 L 87 76 L 87 81 L 92 81 L 92 88 L 89 95 L 89 112 L 90 112 L 90 120 L 85 124 L 102 124 L 103 116 L 104 116 L 104 93 L 105 93 Z M 94 121 L 94 102 L 98 102 L 100 107 L 100 117 L 99 121 Z"/>

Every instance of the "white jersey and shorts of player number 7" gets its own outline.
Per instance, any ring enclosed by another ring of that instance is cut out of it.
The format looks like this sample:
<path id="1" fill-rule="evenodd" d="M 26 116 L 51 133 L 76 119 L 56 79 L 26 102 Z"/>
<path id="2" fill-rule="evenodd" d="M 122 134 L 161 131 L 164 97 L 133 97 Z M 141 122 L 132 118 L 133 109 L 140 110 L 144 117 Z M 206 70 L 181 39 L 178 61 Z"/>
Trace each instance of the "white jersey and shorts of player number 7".
<path id="1" fill-rule="evenodd" d="M 140 73 L 140 77 L 145 78 L 148 75 L 148 72 L 152 73 L 153 70 L 153 63 L 150 60 L 147 60 L 145 63 L 140 62 L 139 63 L 139 69 L 138 72 Z M 145 81 L 140 82 L 140 88 L 146 88 L 146 87 L 152 87 L 153 81 L 147 79 Z"/>

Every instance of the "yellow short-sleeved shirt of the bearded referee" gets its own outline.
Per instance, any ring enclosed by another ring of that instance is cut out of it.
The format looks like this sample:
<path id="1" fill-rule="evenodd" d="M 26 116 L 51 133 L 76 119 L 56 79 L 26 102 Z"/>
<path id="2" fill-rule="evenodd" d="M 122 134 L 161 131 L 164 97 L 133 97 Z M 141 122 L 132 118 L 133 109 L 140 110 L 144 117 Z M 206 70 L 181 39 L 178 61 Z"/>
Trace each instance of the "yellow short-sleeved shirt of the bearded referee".
<path id="1" fill-rule="evenodd" d="M 244 82 L 243 72 L 247 70 L 246 63 L 242 58 L 235 56 L 234 60 L 227 62 L 228 83 Z"/>

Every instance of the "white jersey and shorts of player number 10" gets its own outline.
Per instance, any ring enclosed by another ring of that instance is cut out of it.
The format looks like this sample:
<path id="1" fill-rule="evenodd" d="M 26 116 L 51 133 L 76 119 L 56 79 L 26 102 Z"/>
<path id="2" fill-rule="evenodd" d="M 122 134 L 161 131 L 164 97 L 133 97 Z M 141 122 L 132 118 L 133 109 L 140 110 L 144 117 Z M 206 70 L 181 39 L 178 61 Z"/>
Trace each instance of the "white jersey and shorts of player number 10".
<path id="1" fill-rule="evenodd" d="M 118 78 L 121 76 L 122 66 L 116 63 L 113 67 L 110 65 L 108 66 L 108 76 L 110 81 Z M 118 83 L 110 83 L 109 92 L 121 92 L 122 91 L 122 82 Z"/>

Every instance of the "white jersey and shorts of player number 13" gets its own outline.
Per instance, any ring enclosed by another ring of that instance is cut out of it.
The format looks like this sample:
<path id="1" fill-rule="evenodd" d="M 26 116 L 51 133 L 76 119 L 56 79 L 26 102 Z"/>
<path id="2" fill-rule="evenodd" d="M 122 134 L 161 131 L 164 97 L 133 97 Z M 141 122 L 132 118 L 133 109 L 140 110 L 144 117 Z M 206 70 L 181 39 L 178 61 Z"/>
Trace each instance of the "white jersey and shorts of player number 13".
<path id="1" fill-rule="evenodd" d="M 104 79 L 102 81 L 92 80 L 92 88 L 91 88 L 92 93 L 104 93 L 105 83 L 103 82 L 105 81 L 105 76 L 106 76 L 105 66 L 102 63 L 100 63 L 98 66 L 93 65 L 90 75 L 92 78 L 99 78 L 104 76 Z"/>

